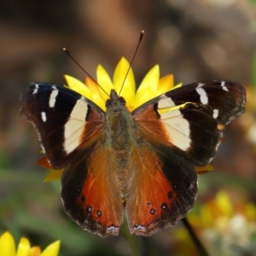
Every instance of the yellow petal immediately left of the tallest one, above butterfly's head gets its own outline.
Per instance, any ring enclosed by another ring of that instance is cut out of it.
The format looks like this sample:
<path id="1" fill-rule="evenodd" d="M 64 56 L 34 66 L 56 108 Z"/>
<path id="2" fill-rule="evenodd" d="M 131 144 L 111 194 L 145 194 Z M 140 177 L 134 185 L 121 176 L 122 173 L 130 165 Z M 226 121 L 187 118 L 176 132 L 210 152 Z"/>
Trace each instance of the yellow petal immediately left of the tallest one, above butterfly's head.
<path id="1" fill-rule="evenodd" d="M 108 94 L 107 95 L 103 90 L 99 89 L 103 102 L 106 102 L 109 99 L 110 90 L 113 89 L 112 81 L 107 71 L 101 65 L 98 65 L 97 67 L 96 77 L 98 84 L 100 84 L 102 89 L 105 90 Z"/>

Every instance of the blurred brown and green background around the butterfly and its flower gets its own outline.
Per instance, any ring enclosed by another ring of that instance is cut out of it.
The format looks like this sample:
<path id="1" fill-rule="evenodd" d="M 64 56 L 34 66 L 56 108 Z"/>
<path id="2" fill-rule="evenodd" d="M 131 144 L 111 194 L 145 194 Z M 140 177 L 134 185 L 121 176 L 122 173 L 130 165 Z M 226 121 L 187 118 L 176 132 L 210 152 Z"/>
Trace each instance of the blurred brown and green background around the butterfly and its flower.
<path id="1" fill-rule="evenodd" d="M 0 234 L 9 230 L 46 247 L 61 239 L 60 255 L 130 255 L 124 236 L 102 239 L 83 231 L 61 205 L 60 182 L 43 183 L 38 137 L 20 118 L 19 95 L 34 82 L 64 84 L 63 74 L 92 77 L 100 63 L 110 75 L 122 56 L 137 84 L 155 64 L 175 83 L 231 79 L 247 88 L 247 112 L 224 131 L 201 175 L 188 218 L 211 255 L 256 255 L 256 1 L 61 0 L 0 3 Z M 146 182 L 146 181 L 145 181 Z M 197 255 L 183 224 L 138 237 L 142 255 Z"/>

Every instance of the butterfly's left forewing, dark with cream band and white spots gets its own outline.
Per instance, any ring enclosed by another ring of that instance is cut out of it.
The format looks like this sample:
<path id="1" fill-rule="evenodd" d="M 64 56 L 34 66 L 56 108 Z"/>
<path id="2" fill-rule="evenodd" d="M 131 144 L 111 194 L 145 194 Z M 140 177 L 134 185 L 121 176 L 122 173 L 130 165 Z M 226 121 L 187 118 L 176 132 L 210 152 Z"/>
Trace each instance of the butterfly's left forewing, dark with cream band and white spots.
<path id="1" fill-rule="evenodd" d="M 38 131 L 55 169 L 66 166 L 79 148 L 89 147 L 105 121 L 104 112 L 93 102 L 55 84 L 30 84 L 20 103 L 21 115 Z"/>

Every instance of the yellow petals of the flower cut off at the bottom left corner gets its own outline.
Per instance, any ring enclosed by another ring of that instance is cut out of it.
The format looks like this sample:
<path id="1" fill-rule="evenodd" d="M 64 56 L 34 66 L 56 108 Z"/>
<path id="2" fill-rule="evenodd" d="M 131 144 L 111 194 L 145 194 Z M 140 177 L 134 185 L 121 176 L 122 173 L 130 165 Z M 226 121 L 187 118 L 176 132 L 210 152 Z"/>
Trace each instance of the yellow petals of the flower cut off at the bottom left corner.
<path id="1" fill-rule="evenodd" d="M 54 241 L 41 253 L 40 247 L 30 247 L 30 242 L 25 238 L 20 238 L 20 243 L 15 249 L 14 237 L 9 232 L 4 232 L 0 236 L 0 255 L 1 256 L 56 256 L 60 250 L 61 241 Z"/>

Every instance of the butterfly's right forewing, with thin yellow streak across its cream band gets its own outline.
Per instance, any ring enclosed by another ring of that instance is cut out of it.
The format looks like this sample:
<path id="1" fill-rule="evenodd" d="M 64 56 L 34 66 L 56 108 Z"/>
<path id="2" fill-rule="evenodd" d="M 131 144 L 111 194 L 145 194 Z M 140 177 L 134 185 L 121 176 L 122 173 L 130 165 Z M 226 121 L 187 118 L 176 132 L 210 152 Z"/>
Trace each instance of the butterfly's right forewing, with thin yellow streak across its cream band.
<path id="1" fill-rule="evenodd" d="M 137 127 L 152 143 L 165 144 L 196 166 L 212 160 L 222 132 L 244 112 L 245 90 L 231 81 L 189 84 L 166 92 L 137 108 Z"/>

